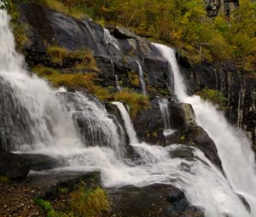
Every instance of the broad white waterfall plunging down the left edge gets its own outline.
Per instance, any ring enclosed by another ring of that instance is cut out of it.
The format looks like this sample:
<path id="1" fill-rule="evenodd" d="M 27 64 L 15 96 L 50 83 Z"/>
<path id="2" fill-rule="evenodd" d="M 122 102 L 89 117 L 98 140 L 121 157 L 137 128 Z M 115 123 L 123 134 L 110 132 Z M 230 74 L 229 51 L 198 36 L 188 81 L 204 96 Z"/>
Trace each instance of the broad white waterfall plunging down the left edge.
<path id="1" fill-rule="evenodd" d="M 26 73 L 23 58 L 15 51 L 9 15 L 3 10 L 0 10 L 0 46 L 0 94 L 3 95 L 0 107 L 4 119 L 0 123 L 1 134 L 9 134 L 9 128 L 15 129 L 13 138 L 0 145 L 17 151 L 78 144 L 72 118 L 58 102 L 56 91 L 44 80 Z"/>

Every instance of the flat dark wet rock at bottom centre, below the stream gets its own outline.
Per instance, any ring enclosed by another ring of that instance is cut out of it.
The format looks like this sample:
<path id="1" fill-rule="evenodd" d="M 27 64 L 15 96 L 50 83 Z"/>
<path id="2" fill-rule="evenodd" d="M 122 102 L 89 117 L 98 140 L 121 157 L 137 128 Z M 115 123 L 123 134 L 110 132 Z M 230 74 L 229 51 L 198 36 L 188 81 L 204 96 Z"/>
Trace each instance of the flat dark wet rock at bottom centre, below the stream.
<path id="1" fill-rule="evenodd" d="M 191 206 L 183 191 L 174 186 L 154 184 L 137 188 L 107 189 L 116 216 L 203 217 L 200 208 Z"/>

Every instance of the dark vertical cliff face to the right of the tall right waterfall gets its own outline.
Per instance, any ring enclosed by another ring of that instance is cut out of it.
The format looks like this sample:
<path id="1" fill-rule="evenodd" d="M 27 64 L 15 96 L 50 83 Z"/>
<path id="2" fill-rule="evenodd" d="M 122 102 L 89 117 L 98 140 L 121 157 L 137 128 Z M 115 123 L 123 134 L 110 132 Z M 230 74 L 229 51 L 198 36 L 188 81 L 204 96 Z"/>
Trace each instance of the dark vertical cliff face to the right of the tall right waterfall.
<path id="1" fill-rule="evenodd" d="M 255 77 L 247 71 L 241 71 L 232 62 L 218 66 L 204 62 L 194 68 L 183 64 L 181 69 L 190 94 L 203 88 L 217 89 L 224 94 L 228 100 L 226 117 L 230 123 L 247 133 L 256 151 Z"/>

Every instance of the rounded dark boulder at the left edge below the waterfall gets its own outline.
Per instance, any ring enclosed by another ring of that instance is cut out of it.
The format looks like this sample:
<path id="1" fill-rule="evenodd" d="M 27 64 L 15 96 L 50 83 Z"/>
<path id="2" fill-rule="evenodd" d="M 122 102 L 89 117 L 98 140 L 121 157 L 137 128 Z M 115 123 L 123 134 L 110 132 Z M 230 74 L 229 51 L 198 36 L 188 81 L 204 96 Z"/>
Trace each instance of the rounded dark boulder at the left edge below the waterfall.
<path id="1" fill-rule="evenodd" d="M 0 176 L 10 180 L 24 180 L 29 169 L 25 158 L 0 148 Z"/>

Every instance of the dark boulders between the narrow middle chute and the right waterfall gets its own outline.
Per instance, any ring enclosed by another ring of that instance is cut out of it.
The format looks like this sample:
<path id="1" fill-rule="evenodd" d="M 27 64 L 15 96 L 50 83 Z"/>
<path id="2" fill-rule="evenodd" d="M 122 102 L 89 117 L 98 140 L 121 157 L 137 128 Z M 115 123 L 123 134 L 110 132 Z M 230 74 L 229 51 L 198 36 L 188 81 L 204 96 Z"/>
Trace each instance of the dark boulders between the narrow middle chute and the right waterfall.
<path id="1" fill-rule="evenodd" d="M 222 170 L 217 148 L 207 132 L 195 123 L 195 112 L 191 105 L 169 100 L 169 120 L 172 134 L 164 134 L 164 119 L 162 117 L 159 99 L 151 100 L 150 109 L 141 111 L 134 120 L 134 127 L 140 140 L 148 144 L 168 146 L 172 144 L 184 144 L 200 149 L 208 159 Z M 178 153 L 177 153 L 178 154 Z M 180 153 L 191 156 L 191 151 Z"/>

